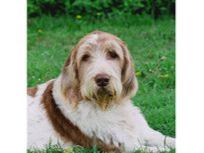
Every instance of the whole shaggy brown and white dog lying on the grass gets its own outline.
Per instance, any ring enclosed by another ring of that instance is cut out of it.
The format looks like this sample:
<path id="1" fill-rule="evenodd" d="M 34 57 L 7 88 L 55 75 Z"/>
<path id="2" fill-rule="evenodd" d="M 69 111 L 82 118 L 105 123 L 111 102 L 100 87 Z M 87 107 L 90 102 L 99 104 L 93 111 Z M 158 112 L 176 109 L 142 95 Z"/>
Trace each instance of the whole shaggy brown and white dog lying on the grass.
<path id="1" fill-rule="evenodd" d="M 50 141 L 117 152 L 175 148 L 175 139 L 151 129 L 132 105 L 137 89 L 124 42 L 101 31 L 88 34 L 59 77 L 28 88 L 28 148 Z"/>

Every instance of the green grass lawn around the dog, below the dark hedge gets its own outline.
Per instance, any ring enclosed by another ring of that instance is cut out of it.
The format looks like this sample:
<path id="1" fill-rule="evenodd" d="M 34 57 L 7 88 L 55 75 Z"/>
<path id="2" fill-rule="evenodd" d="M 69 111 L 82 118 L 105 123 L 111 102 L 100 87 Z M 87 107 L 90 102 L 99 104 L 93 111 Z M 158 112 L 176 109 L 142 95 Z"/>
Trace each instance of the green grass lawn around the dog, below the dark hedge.
<path id="1" fill-rule="evenodd" d="M 175 20 L 171 17 L 157 21 L 147 16 L 96 21 L 47 16 L 28 19 L 28 86 L 57 77 L 71 48 L 96 29 L 126 42 L 139 81 L 134 104 L 141 108 L 151 127 L 175 136 Z"/>

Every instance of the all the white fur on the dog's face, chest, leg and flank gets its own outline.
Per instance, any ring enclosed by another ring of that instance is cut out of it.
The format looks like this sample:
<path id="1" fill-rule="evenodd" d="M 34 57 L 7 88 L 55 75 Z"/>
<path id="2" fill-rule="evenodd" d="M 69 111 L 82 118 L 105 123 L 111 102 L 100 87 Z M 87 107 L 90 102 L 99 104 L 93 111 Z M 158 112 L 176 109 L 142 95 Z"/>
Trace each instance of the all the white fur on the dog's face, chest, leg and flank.
<path id="1" fill-rule="evenodd" d="M 87 38 L 85 44 L 95 44 L 98 39 L 97 34 L 92 34 Z M 120 55 L 121 48 L 114 44 Z M 83 55 L 85 46 L 79 48 L 77 61 Z M 121 68 L 119 63 L 107 60 L 104 52 L 97 51 L 100 47 L 94 48 L 91 56 L 92 63 L 79 70 L 83 76 L 81 78 L 80 91 L 82 96 L 92 97 L 97 86 L 94 77 L 99 73 L 108 74 L 111 79 L 108 88 L 116 91 L 116 96 L 122 92 Z M 73 70 L 68 70 L 70 76 L 74 75 Z M 69 76 L 69 77 L 70 77 Z M 70 79 L 70 78 L 64 78 Z M 63 115 L 76 125 L 85 135 L 97 137 L 106 144 L 113 143 L 115 146 L 123 146 L 125 152 L 143 149 L 146 151 L 158 152 L 175 148 L 175 139 L 166 137 L 158 131 L 151 129 L 139 109 L 132 105 L 129 96 L 116 99 L 110 103 L 107 110 L 102 110 L 94 99 L 91 101 L 79 101 L 74 109 L 71 102 L 65 101 L 62 93 L 62 76 L 54 80 L 53 97 Z M 28 148 L 43 147 L 51 140 L 52 143 L 59 142 L 62 146 L 70 145 L 64 143 L 55 133 L 52 124 L 46 116 L 46 112 L 41 105 L 42 94 L 49 82 L 38 86 L 37 95 L 33 98 L 28 96 Z M 135 89 L 136 90 L 136 89 Z"/>

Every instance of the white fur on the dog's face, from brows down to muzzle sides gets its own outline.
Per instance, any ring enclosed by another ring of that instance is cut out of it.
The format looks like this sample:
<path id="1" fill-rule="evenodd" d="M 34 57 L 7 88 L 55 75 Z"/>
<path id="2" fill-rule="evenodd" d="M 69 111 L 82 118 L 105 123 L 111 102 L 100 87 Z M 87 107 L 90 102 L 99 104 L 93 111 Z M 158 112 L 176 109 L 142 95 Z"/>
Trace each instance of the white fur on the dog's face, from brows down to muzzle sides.
<path id="1" fill-rule="evenodd" d="M 100 45 L 97 45 L 96 41 L 98 39 L 97 34 L 90 35 L 80 47 L 77 54 L 77 61 L 80 61 L 81 56 L 84 54 L 87 46 L 90 44 L 94 45 L 89 48 L 89 52 L 91 52 L 91 64 L 82 67 L 83 69 L 83 76 L 81 78 L 81 94 L 83 97 L 88 97 L 92 99 L 94 92 L 97 91 L 97 85 L 95 83 L 95 76 L 100 73 L 104 73 L 110 76 L 110 83 L 108 88 L 111 91 L 116 92 L 116 98 L 120 96 L 122 91 L 122 84 L 121 84 L 121 68 L 119 64 L 116 63 L 114 60 L 107 60 L 106 54 L 101 48 Z M 122 49 L 115 41 L 107 41 L 107 45 L 114 46 L 117 50 L 118 55 L 122 58 Z M 91 50 L 91 51 L 90 51 Z"/>

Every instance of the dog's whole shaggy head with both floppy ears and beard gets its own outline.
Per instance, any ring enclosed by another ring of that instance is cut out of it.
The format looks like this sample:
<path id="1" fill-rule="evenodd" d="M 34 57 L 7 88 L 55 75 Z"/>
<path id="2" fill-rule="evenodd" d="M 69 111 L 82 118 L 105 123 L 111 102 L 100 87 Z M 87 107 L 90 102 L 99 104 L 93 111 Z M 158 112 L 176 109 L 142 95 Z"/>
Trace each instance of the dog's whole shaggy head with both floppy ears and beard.
<path id="1" fill-rule="evenodd" d="M 72 49 L 62 73 L 62 92 L 70 101 L 86 99 L 100 106 L 131 98 L 137 81 L 129 51 L 119 38 L 95 31 Z"/>

